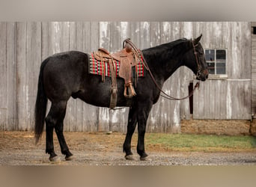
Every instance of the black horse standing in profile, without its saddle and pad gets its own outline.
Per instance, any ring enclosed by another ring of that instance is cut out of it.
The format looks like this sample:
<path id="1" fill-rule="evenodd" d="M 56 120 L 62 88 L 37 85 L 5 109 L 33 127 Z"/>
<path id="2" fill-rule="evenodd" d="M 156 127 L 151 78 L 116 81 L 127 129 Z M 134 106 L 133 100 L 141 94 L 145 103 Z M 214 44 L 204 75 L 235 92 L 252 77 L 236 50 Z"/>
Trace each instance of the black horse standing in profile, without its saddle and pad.
<path id="1" fill-rule="evenodd" d="M 147 117 L 152 105 L 159 99 L 159 88 L 162 88 L 164 82 L 175 70 L 186 66 L 195 73 L 198 80 L 205 81 L 207 79 L 208 70 L 204 49 L 199 43 L 201 36 L 195 40 L 175 40 L 141 51 L 155 82 L 148 70 L 145 70 L 144 77 L 138 78 L 135 87 L 137 95 L 132 97 L 132 105 L 129 107 L 127 135 L 124 141 L 126 159 L 132 159 L 131 139 L 137 123 L 137 153 L 141 160 L 147 157 L 144 150 Z M 156 84 L 159 85 L 159 88 Z M 61 153 L 66 156 L 65 159 L 69 160 L 73 156 L 63 134 L 63 121 L 67 100 L 70 99 L 70 96 L 74 99 L 82 99 L 91 105 L 109 107 L 111 85 L 112 80 L 109 77 L 102 82 L 101 76 L 88 73 L 88 55 L 83 52 L 59 53 L 43 61 L 38 79 L 34 133 L 37 142 L 42 135 L 44 121 L 46 121 L 46 153 L 49 153 L 50 161 L 55 161 L 58 158 L 53 146 L 53 129 L 58 137 Z M 126 106 L 124 79 L 118 78 L 117 85 L 117 106 Z M 52 105 L 46 117 L 47 99 L 52 102 Z"/>

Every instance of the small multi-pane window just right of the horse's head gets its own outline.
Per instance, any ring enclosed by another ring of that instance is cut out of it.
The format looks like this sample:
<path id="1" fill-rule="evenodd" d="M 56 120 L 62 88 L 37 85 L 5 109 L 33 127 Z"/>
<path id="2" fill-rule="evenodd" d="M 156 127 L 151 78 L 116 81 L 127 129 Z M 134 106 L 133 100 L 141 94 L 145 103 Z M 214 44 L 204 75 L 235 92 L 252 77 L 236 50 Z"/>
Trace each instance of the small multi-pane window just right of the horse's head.
<path id="1" fill-rule="evenodd" d="M 227 63 L 226 49 L 205 49 L 205 58 L 209 73 L 212 75 L 225 75 Z"/>

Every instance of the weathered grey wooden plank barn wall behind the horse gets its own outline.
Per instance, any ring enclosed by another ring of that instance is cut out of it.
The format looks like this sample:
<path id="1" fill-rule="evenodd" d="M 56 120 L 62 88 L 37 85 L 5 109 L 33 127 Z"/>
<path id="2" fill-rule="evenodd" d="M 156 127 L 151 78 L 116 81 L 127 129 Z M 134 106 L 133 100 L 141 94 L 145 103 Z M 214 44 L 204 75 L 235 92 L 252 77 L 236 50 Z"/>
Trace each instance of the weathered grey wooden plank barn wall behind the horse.
<path id="1" fill-rule="evenodd" d="M 228 49 L 228 79 L 201 83 L 194 96 L 194 118 L 249 119 L 251 35 L 249 22 L 0 22 L 0 129 L 34 129 L 34 102 L 41 61 L 56 52 L 121 49 L 130 37 L 140 49 L 203 34 L 204 48 Z M 172 96 L 188 94 L 192 72 L 181 67 L 165 82 Z M 49 108 L 49 106 L 48 106 Z M 109 110 L 70 99 L 64 130 L 126 132 L 128 108 Z M 189 100 L 153 106 L 147 132 L 180 132 L 189 119 Z"/>

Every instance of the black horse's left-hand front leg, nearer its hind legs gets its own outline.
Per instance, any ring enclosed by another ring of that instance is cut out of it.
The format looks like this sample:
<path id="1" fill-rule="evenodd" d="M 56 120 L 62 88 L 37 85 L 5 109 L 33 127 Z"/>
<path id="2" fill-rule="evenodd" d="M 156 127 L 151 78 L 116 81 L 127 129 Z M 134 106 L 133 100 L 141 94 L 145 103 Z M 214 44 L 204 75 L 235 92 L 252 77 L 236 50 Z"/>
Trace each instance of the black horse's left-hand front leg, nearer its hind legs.
<path id="1" fill-rule="evenodd" d="M 127 135 L 124 141 L 124 152 L 125 152 L 125 159 L 133 160 L 132 151 L 131 151 L 131 141 L 132 135 L 135 131 L 137 123 L 137 108 L 132 106 L 129 108 L 129 117 L 128 117 L 128 125 L 127 125 Z"/>

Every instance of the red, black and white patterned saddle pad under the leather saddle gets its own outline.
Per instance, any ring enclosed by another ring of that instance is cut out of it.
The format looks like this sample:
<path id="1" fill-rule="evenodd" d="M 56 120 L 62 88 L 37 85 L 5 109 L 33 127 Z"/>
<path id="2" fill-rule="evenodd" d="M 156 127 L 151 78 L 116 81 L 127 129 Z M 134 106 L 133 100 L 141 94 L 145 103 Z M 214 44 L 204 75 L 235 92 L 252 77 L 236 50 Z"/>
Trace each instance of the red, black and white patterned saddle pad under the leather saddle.
<path id="1" fill-rule="evenodd" d="M 105 72 L 105 76 L 111 76 L 111 71 L 109 69 L 108 61 L 103 61 L 103 63 L 101 61 L 97 61 L 97 59 L 94 58 L 93 53 L 88 54 L 88 57 L 89 57 L 89 62 L 90 62 L 89 73 L 102 76 L 103 72 Z M 142 58 L 141 58 L 141 61 L 142 61 Z M 141 61 L 138 61 L 137 66 L 136 66 L 137 67 L 136 72 L 137 72 L 138 77 L 144 76 L 144 65 L 142 64 Z M 120 61 L 114 60 L 114 68 L 115 68 L 115 72 L 116 72 L 115 76 L 118 76 L 119 68 L 120 68 Z"/>

